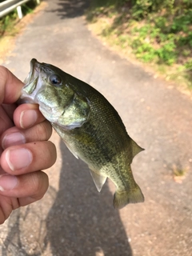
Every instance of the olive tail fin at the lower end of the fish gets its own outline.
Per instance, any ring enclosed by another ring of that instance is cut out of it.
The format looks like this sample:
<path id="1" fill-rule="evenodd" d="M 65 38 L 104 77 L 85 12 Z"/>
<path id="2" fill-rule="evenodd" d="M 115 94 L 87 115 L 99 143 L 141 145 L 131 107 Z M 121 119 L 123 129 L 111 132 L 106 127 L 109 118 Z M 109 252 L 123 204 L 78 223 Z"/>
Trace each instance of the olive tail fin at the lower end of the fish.
<path id="1" fill-rule="evenodd" d="M 142 190 L 136 184 L 134 190 L 121 191 L 118 190 L 114 194 L 114 208 L 121 209 L 128 203 L 144 202 Z"/>

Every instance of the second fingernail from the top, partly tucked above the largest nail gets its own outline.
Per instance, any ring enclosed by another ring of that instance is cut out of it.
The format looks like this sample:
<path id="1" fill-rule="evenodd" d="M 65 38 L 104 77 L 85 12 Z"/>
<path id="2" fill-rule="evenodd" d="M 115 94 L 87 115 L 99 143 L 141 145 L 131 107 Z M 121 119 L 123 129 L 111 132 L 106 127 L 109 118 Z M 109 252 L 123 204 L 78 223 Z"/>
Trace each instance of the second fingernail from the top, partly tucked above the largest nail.
<path id="1" fill-rule="evenodd" d="M 21 145 L 26 143 L 26 138 L 21 133 L 6 134 L 2 139 L 2 148 L 5 150 L 8 146 Z"/>

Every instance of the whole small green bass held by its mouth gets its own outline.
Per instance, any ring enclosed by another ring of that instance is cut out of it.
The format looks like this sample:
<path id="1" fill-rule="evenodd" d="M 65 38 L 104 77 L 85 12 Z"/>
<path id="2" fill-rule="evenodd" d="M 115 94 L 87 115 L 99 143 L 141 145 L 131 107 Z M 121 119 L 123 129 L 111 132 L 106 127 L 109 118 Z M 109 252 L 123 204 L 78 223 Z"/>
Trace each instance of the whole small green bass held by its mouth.
<path id="1" fill-rule="evenodd" d="M 143 149 L 130 138 L 117 110 L 98 90 L 34 58 L 24 84 L 22 102 L 39 105 L 74 157 L 89 166 L 97 190 L 102 190 L 107 178 L 114 182 L 115 209 L 144 202 L 130 166 Z"/>

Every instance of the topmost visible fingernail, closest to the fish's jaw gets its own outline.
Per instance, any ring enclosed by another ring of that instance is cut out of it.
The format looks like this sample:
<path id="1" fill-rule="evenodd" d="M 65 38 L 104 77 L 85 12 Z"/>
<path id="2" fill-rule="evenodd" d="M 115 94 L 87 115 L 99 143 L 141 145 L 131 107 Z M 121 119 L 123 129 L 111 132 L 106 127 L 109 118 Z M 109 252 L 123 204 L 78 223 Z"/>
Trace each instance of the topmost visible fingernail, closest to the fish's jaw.
<path id="1" fill-rule="evenodd" d="M 33 126 L 37 119 L 38 114 L 36 110 L 25 110 L 22 111 L 19 123 L 22 128 L 26 128 L 29 126 Z"/>

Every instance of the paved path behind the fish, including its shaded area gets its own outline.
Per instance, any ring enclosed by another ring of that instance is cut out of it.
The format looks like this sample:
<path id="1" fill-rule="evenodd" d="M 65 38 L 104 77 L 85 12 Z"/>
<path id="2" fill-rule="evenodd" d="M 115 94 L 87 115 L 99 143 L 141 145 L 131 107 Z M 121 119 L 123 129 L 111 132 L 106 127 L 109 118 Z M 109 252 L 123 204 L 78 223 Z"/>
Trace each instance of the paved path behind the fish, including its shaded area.
<path id="1" fill-rule="evenodd" d="M 114 210 L 113 184 L 99 194 L 86 164 L 54 133 L 58 161 L 47 170 L 50 188 L 0 226 L 0 254 L 191 256 L 191 99 L 94 38 L 82 17 L 88 2 L 47 2 L 4 65 L 24 79 L 30 59 L 37 58 L 104 94 L 130 137 L 146 149 L 132 164 L 146 202 Z M 174 181 L 174 166 L 188 170 L 182 182 Z"/>

